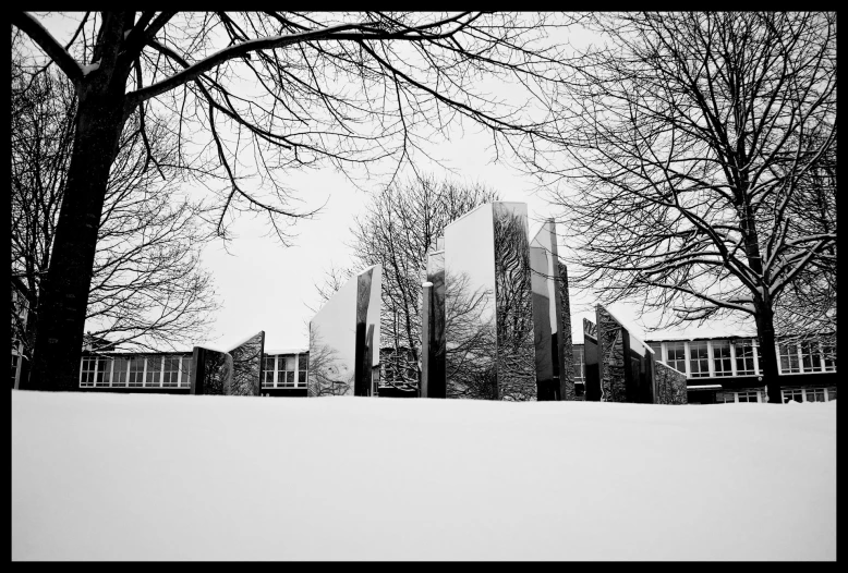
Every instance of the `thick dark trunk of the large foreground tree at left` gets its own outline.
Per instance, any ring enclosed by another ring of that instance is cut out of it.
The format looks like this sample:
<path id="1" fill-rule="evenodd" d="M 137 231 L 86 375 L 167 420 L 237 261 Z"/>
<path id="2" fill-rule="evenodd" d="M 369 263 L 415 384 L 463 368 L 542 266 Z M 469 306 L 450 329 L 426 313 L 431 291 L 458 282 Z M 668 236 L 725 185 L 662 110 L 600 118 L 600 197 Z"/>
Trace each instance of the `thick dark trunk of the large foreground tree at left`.
<path id="1" fill-rule="evenodd" d="M 71 164 L 39 293 L 32 371 L 22 385 L 33 390 L 78 387 L 97 229 L 124 123 L 123 85 L 116 93 L 111 82 L 81 84 Z"/>

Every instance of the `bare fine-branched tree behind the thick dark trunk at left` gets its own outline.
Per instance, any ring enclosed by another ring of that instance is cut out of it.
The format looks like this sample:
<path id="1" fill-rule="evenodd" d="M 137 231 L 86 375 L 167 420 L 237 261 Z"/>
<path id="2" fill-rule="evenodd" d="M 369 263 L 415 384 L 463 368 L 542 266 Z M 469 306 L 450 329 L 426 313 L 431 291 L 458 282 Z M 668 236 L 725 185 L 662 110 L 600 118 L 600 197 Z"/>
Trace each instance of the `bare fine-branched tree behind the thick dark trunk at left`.
<path id="1" fill-rule="evenodd" d="M 74 134 L 73 86 L 48 70 L 27 78 L 12 60 L 11 203 L 13 338 L 31 358 L 41 279 L 52 255 Z M 148 126 L 168 182 L 145 170 L 137 118 L 119 143 L 98 225 L 86 320 L 90 340 L 134 348 L 203 340 L 216 307 L 199 246 L 210 237 L 195 222 L 198 204 L 179 198 L 173 137 Z M 170 162 L 169 162 L 170 160 Z M 95 349 L 97 350 L 97 349 Z"/>

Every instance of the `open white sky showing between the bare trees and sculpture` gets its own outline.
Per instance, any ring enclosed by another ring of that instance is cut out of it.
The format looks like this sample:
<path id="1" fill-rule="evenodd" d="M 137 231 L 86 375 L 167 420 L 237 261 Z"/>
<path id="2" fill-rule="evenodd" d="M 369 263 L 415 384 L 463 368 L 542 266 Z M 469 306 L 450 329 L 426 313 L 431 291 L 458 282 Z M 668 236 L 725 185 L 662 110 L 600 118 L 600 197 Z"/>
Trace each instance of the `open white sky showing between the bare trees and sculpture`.
<path id="1" fill-rule="evenodd" d="M 75 27 L 75 19 L 52 16 L 41 22 L 60 41 L 66 41 Z M 502 200 L 526 203 L 533 236 L 541 221 L 557 211 L 534 193 L 535 182 L 532 179 L 522 176 L 517 169 L 507 164 L 493 163 L 495 155 L 488 148 L 489 144 L 489 137 L 467 129 L 462 138 L 455 138 L 447 144 L 432 144 L 428 153 L 438 158 L 444 167 L 425 158 L 421 158 L 417 164 L 421 170 L 436 176 L 483 183 L 497 190 Z M 447 173 L 445 168 L 456 172 Z M 316 309 L 318 306 L 315 284 L 323 282 L 325 271 L 332 265 L 349 265 L 350 249 L 347 244 L 352 239 L 350 224 L 354 216 L 363 212 L 368 196 L 329 168 L 288 178 L 287 184 L 299 191 L 298 198 L 304 202 L 299 205 L 301 209 L 320 206 L 325 200 L 326 208 L 314 220 L 298 222 L 294 229 L 295 244 L 291 247 L 283 247 L 268 236 L 268 228 L 262 219 L 242 217 L 232 227 L 237 239 L 226 248 L 218 241 L 204 249 L 204 266 L 213 272 L 216 291 L 222 303 L 220 310 L 215 314 L 207 344 L 230 348 L 234 341 L 265 330 L 266 349 L 308 346 L 307 324 L 314 316 L 308 306 Z M 367 182 L 365 187 L 376 191 L 381 184 L 385 181 L 374 180 Z M 560 235 L 560 244 L 569 244 L 569 239 Z M 582 318 L 594 321 L 595 302 L 592 294 L 572 288 L 574 342 L 581 342 L 583 338 Z M 645 327 L 656 326 L 656 319 L 641 317 L 639 309 L 632 306 L 611 305 L 610 309 L 640 338 L 645 338 Z M 712 326 L 710 329 L 690 328 L 685 334 L 742 333 L 738 328 Z M 658 334 L 654 337 L 658 338 Z"/>

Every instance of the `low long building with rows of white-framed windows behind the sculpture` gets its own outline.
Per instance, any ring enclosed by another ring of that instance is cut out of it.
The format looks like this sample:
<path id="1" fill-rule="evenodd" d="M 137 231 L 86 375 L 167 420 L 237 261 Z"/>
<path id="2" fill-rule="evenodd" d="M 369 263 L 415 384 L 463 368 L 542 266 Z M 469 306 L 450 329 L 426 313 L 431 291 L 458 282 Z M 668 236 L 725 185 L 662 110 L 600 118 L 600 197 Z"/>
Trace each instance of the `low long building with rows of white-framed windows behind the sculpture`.
<path id="1" fill-rule="evenodd" d="M 690 404 L 765 402 L 759 380 L 760 352 L 755 338 L 723 337 L 686 340 L 646 340 L 658 362 L 687 376 Z M 13 341 L 12 383 L 21 373 Z M 835 337 L 777 344 L 784 402 L 825 402 L 836 399 Z M 393 349 L 381 349 L 380 357 Z M 712 359 L 711 359 L 712 356 Z M 306 349 L 272 349 L 264 353 L 262 395 L 305 397 L 310 353 Z M 384 361 L 380 361 L 381 363 Z M 386 364 L 390 361 L 385 361 Z M 381 368 L 385 370 L 385 368 Z M 80 359 L 80 389 L 107 392 L 187 394 L 191 389 L 192 351 L 92 352 Z M 584 345 L 573 344 L 577 400 L 585 398 Z M 391 375 L 386 373 L 385 378 Z M 400 386 L 400 385 L 398 385 Z M 378 395 L 411 395 L 411 389 L 379 386 Z"/>

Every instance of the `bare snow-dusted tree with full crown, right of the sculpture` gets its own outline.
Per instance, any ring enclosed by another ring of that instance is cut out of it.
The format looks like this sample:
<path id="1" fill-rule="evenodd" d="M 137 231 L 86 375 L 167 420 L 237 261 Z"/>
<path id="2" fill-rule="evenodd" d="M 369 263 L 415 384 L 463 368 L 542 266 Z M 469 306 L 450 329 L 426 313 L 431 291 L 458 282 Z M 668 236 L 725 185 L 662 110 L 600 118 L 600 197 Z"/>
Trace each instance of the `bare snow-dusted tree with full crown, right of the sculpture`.
<path id="1" fill-rule="evenodd" d="M 595 14 L 590 28 L 605 44 L 552 103 L 569 162 L 543 167 L 579 191 L 555 194 L 584 237 L 579 283 L 678 321 L 753 319 L 779 402 L 775 313 L 835 264 L 835 184 L 814 174 L 836 141 L 836 14 Z M 821 217 L 797 218 L 813 204 Z"/>

